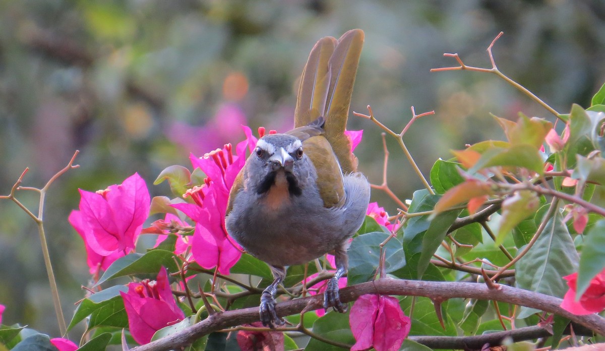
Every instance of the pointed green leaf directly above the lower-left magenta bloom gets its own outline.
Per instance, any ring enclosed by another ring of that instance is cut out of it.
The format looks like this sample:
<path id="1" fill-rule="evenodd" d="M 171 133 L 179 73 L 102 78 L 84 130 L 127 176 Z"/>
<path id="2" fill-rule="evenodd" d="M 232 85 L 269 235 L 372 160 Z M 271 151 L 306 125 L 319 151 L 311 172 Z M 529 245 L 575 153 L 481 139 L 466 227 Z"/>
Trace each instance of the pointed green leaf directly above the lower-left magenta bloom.
<path id="1" fill-rule="evenodd" d="M 126 275 L 151 275 L 155 277 L 162 266 L 166 267 L 168 271 L 176 272 L 178 267 L 173 257 L 176 257 L 174 252 L 165 250 L 152 250 L 145 254 L 128 254 L 114 261 L 94 286 L 99 286 L 107 280 L 125 277 Z"/>

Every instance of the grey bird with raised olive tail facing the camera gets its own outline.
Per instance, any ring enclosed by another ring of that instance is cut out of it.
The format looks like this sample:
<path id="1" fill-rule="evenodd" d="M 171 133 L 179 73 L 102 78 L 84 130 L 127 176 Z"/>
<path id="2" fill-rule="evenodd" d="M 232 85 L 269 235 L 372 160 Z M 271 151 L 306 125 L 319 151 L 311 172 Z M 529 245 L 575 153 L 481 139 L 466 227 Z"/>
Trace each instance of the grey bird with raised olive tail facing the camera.
<path id="1" fill-rule="evenodd" d="M 363 43 L 361 29 L 319 39 L 302 72 L 293 130 L 258 139 L 229 192 L 227 232 L 269 264 L 274 278 L 260 298 L 261 323 L 272 329 L 285 323 L 275 295 L 286 267 L 327 253 L 335 256 L 336 272 L 323 307 L 347 310 L 338 280 L 370 201 L 370 183 L 357 171 L 344 133 Z"/>

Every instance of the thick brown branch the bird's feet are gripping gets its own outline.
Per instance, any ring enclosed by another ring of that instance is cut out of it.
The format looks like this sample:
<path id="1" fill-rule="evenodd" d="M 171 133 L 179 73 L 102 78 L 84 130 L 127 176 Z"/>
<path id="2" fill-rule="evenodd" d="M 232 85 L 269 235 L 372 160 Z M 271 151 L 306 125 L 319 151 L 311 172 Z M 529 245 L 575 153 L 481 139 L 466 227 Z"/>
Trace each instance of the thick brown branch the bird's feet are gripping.
<path id="1" fill-rule="evenodd" d="M 422 296 L 431 299 L 476 298 L 479 300 L 502 301 L 555 313 L 594 330 L 600 335 L 605 335 L 605 319 L 599 315 L 574 315 L 561 308 L 560 304 L 563 300 L 560 298 L 511 286 L 500 285 L 499 289 L 490 289 L 486 284 L 480 283 L 385 278 L 356 284 L 340 290 L 341 300 L 344 303 L 355 301 L 365 294 Z M 275 306 L 275 310 L 280 316 L 297 314 L 303 309 L 313 310 L 320 308 L 322 308 L 321 295 L 298 298 L 278 303 Z M 185 330 L 181 330 L 160 340 L 152 341 L 149 344 L 134 347 L 131 351 L 178 349 L 179 347 L 191 344 L 193 341 L 211 332 L 255 321 L 259 321 L 258 307 L 214 313 L 211 317 Z"/>

